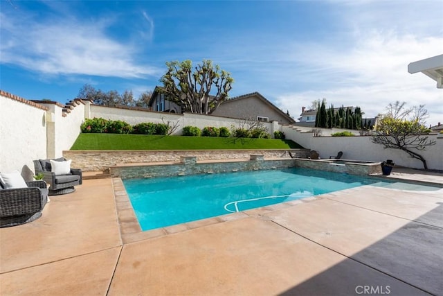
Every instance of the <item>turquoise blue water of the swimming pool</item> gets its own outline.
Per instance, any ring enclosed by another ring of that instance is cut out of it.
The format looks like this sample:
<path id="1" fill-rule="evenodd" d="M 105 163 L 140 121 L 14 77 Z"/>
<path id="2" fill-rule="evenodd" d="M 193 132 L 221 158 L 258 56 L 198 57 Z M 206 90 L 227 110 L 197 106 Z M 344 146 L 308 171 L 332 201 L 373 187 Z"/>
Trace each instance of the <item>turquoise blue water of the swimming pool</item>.
<path id="1" fill-rule="evenodd" d="M 388 182 L 341 173 L 289 168 L 123 180 L 143 231 L 270 204 Z"/>

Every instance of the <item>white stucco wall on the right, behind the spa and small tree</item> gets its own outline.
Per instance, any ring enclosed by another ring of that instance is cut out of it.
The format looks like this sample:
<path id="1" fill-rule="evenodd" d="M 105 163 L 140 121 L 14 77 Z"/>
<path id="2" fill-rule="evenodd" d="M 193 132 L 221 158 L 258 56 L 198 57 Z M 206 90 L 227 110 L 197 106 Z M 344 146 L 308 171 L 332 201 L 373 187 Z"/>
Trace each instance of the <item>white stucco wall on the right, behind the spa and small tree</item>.
<path id="1" fill-rule="evenodd" d="M 296 141 L 301 146 L 316 150 L 321 158 L 337 155 L 338 151 L 343 151 L 343 159 L 368 160 L 372 162 L 382 162 L 392 159 L 399 166 L 408 168 L 423 168 L 423 163 L 419 159 L 408 157 L 408 154 L 397 149 L 384 149 L 381 144 L 372 143 L 370 136 L 359 137 L 313 137 L 312 132 L 304 130 L 293 130 L 289 126 L 282 128 L 287 139 Z M 328 134 L 328 130 L 323 130 L 322 135 Z M 435 139 L 436 144 L 426 147 L 424 151 L 417 151 L 421 154 L 428 168 L 443 170 L 443 138 L 437 138 L 436 134 L 429 137 Z"/>

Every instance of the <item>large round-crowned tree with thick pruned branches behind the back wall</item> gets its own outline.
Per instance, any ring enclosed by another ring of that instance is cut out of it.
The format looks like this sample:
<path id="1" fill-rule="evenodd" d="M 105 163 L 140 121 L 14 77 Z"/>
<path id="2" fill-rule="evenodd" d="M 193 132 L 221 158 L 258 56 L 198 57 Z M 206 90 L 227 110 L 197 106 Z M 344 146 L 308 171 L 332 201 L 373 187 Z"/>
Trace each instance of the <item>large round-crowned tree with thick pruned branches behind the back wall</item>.
<path id="1" fill-rule="evenodd" d="M 190 60 L 166 62 L 166 66 L 168 71 L 160 80 L 162 92 L 183 112 L 211 114 L 226 101 L 232 89 L 234 79 L 230 73 L 210 60 L 203 60 L 197 67 L 192 67 Z"/>

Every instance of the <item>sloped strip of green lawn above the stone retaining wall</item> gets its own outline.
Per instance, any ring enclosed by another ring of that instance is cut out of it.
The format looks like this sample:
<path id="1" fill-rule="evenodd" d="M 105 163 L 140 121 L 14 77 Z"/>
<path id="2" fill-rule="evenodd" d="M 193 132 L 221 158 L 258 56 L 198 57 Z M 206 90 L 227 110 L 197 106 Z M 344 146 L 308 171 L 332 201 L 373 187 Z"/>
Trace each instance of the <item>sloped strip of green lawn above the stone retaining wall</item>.
<path id="1" fill-rule="evenodd" d="M 71 150 L 210 150 L 302 148 L 291 140 L 154 136 L 145 134 L 80 134 Z"/>

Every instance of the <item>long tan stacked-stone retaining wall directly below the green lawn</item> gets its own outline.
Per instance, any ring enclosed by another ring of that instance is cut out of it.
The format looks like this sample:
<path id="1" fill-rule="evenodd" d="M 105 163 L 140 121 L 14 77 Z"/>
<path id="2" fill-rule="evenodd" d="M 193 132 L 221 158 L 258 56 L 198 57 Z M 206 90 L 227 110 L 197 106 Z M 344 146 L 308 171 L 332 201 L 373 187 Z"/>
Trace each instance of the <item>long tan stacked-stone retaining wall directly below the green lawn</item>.
<path id="1" fill-rule="evenodd" d="M 196 156 L 197 161 L 249 159 L 250 155 L 266 158 L 289 157 L 289 150 L 65 150 L 72 167 L 83 171 L 105 171 L 110 166 L 155 162 L 180 162 L 180 157 Z M 309 149 L 290 150 L 294 157 L 306 158 Z"/>

